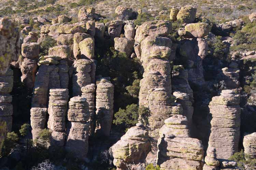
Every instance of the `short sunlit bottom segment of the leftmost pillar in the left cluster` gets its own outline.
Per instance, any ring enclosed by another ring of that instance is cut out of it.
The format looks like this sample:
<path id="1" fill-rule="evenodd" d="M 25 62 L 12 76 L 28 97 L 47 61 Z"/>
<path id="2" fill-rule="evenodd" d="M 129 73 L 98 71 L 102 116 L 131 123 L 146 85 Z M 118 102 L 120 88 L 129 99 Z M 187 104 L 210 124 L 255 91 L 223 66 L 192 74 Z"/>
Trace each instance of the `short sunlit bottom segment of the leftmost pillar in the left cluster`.
<path id="1" fill-rule="evenodd" d="M 33 140 L 38 139 L 39 133 L 45 128 L 47 108 L 32 107 L 30 109 L 30 121 Z"/>

